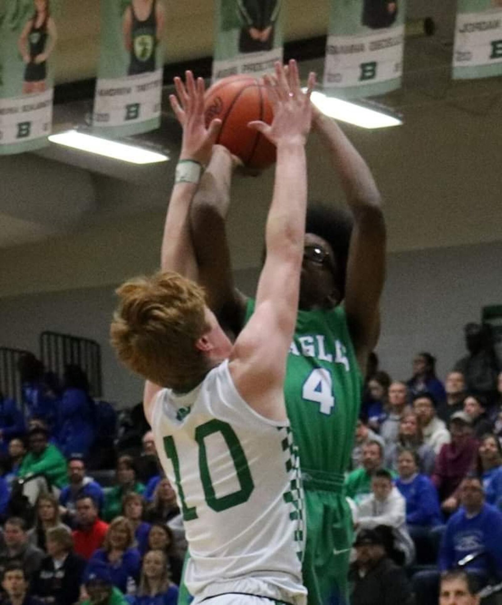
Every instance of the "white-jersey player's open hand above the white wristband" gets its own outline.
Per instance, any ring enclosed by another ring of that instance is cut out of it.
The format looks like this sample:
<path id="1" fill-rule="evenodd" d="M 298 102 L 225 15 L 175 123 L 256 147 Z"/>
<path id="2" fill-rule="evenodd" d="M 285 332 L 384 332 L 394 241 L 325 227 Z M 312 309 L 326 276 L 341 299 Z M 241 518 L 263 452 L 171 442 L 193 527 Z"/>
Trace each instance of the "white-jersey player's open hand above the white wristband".
<path id="1" fill-rule="evenodd" d="M 221 120 L 214 119 L 208 128 L 204 119 L 204 80 L 194 79 L 191 71 L 185 72 L 186 83 L 175 77 L 176 95 L 169 100 L 178 122 L 183 128 L 181 160 L 195 160 L 206 166 L 211 149 L 221 128 Z"/>

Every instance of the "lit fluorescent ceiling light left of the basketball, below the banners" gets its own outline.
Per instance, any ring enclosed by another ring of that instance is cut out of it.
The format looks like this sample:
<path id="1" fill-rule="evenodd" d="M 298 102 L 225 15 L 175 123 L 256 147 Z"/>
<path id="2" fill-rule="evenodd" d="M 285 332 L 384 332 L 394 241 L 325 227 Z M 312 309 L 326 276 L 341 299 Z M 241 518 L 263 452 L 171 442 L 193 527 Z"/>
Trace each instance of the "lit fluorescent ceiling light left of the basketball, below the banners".
<path id="1" fill-rule="evenodd" d="M 85 132 L 77 130 L 51 134 L 49 140 L 51 143 L 66 145 L 66 147 L 88 151 L 97 155 L 106 155 L 106 157 L 112 157 L 123 162 L 132 162 L 133 164 L 153 164 L 169 160 L 167 155 L 150 151 L 143 147 L 102 139 L 101 137 L 95 137 L 92 134 L 85 134 Z"/>

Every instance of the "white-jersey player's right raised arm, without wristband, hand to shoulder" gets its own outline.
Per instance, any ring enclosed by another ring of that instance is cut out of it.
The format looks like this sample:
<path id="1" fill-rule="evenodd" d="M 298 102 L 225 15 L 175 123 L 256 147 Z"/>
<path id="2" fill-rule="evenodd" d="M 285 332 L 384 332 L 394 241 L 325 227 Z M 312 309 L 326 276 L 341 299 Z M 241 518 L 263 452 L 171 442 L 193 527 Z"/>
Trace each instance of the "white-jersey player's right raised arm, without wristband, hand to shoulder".
<path id="1" fill-rule="evenodd" d="M 310 92 L 301 93 L 298 68 L 275 67 L 277 81 L 266 78 L 274 106 L 271 126 L 251 126 L 277 146 L 272 203 L 265 231 L 266 260 L 258 284 L 256 308 L 234 345 L 230 371 L 237 390 L 258 413 L 285 420 L 283 383 L 286 357 L 298 310 L 303 260 L 307 170 L 305 143 L 311 126 Z"/>

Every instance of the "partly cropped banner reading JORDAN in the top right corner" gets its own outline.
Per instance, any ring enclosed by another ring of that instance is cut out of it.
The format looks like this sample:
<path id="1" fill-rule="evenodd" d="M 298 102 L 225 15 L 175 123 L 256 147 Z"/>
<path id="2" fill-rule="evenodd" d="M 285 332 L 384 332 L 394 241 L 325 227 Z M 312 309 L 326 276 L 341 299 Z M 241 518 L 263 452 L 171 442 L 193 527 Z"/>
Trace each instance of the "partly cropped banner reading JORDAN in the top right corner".
<path id="1" fill-rule="evenodd" d="M 489 76 L 502 76 L 502 0 L 458 0 L 453 78 Z"/>

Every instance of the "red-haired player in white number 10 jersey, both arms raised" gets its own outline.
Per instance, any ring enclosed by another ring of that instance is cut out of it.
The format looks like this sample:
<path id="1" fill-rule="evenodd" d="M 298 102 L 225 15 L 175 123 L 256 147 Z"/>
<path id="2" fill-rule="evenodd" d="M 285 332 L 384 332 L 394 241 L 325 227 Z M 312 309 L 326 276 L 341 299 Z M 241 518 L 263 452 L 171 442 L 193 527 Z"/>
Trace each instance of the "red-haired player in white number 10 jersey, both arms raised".
<path id="1" fill-rule="evenodd" d="M 271 126 L 252 123 L 277 146 L 266 223 L 266 261 L 256 310 L 234 345 L 195 283 L 188 212 L 220 123 L 204 125 L 204 82 L 175 79 L 183 126 L 180 163 L 164 227 L 162 270 L 118 289 L 111 336 L 118 356 L 147 379 L 146 417 L 176 486 L 195 603 L 303 605 L 303 493 L 283 382 L 296 312 L 307 199 L 304 145 L 311 126 L 309 77 L 277 64 L 265 84 Z"/>

